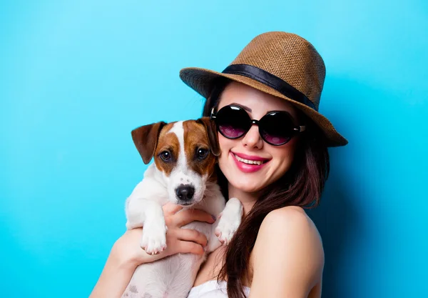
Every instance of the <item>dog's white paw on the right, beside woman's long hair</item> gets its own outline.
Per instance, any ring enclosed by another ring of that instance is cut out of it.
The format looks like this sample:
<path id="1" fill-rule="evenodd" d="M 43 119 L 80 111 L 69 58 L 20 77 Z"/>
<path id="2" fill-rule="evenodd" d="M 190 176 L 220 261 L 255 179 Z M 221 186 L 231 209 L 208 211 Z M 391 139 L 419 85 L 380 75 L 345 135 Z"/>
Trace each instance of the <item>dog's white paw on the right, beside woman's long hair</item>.
<path id="1" fill-rule="evenodd" d="M 215 228 L 215 236 L 222 244 L 228 244 L 238 229 L 243 217 L 243 205 L 232 198 L 229 199 L 223 212 L 218 216 L 218 226 Z"/>

